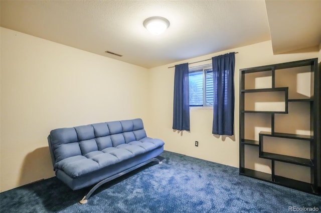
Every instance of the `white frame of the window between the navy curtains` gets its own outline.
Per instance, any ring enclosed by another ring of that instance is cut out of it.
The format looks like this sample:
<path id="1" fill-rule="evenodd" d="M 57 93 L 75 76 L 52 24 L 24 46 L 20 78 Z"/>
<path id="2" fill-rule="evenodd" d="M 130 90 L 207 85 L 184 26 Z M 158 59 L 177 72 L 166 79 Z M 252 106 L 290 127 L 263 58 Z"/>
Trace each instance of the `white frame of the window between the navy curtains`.
<path id="1" fill-rule="evenodd" d="M 207 91 L 206 74 L 207 74 L 207 70 L 209 70 L 209 69 L 212 70 L 212 73 L 213 73 L 212 63 L 203 64 L 203 65 L 199 65 L 199 66 L 193 66 L 193 67 L 189 68 L 189 74 L 191 72 L 202 72 L 202 76 L 203 76 L 203 78 L 202 78 L 203 79 L 203 100 L 202 100 L 202 105 L 190 105 L 190 107 L 207 107 L 207 108 L 213 107 L 213 103 L 207 104 L 208 101 L 206 99 L 206 91 Z"/>

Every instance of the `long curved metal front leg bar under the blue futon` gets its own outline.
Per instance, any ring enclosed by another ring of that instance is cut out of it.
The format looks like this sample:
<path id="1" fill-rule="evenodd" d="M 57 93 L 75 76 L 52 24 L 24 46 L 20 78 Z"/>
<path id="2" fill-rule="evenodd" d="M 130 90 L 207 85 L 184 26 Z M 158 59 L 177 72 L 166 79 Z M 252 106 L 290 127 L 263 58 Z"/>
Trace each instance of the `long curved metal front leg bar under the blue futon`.
<path id="1" fill-rule="evenodd" d="M 89 197 L 91 196 L 91 194 L 92 194 L 97 188 L 99 188 L 99 186 L 101 186 L 102 184 L 104 184 L 104 183 L 106 183 L 106 182 L 108 182 L 108 181 L 110 181 L 110 180 L 113 180 L 113 179 L 115 179 L 115 178 L 117 178 L 117 177 L 119 177 L 119 176 L 121 176 L 121 175 L 124 175 L 124 174 L 126 174 L 126 173 L 128 173 L 128 172 L 130 172 L 130 171 L 132 171 L 132 170 L 135 170 L 136 168 L 139 168 L 139 167 L 141 167 L 141 166 L 143 166 L 143 165 L 146 165 L 147 163 L 153 162 L 153 161 L 156 161 L 156 162 L 158 162 L 159 164 L 162 163 L 162 161 L 159 160 L 159 159 L 157 159 L 157 158 L 151 158 L 151 159 L 146 160 L 146 161 L 144 161 L 144 162 L 142 162 L 142 163 L 139 163 L 138 165 L 135 165 L 135 166 L 133 166 L 133 167 L 130 167 L 130 168 L 128 168 L 128 169 L 126 169 L 126 170 L 124 170 L 124 171 L 122 171 L 122 172 L 119 172 L 119 173 L 117 173 L 117 174 L 114 174 L 114 175 L 106 178 L 106 179 L 103 179 L 103 180 L 101 180 L 100 182 L 98 182 L 94 187 L 92 187 L 92 188 L 90 189 L 90 191 L 89 191 L 78 203 L 79 203 L 79 204 L 85 204 L 85 203 L 87 203 L 87 201 L 88 201 Z"/>

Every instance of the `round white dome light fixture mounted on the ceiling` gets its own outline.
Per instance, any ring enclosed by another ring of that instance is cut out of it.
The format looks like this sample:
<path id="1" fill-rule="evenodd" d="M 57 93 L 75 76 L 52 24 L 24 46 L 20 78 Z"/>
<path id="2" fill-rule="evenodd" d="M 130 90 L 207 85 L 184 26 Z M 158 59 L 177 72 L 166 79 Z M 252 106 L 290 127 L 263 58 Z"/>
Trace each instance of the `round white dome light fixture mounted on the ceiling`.
<path id="1" fill-rule="evenodd" d="M 150 33 L 158 35 L 170 26 L 170 21 L 165 17 L 153 16 L 144 20 L 143 25 Z"/>

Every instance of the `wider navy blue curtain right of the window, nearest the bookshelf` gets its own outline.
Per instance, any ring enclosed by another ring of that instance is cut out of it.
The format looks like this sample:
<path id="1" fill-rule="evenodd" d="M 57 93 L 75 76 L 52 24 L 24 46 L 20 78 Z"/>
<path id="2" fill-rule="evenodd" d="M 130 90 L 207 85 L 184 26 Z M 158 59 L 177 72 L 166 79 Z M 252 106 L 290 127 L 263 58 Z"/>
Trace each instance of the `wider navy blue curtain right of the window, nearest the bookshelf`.
<path id="1" fill-rule="evenodd" d="M 213 134 L 234 134 L 235 52 L 212 57 L 213 64 Z"/>

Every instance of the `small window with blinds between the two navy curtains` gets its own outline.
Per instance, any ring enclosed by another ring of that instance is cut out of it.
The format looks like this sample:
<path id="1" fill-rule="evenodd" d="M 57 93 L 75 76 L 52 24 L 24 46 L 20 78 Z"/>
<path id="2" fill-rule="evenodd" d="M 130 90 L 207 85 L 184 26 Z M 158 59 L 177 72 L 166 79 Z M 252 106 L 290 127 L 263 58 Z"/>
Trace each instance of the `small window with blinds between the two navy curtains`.
<path id="1" fill-rule="evenodd" d="M 189 72 L 190 106 L 213 105 L 212 64 L 191 67 Z"/>

